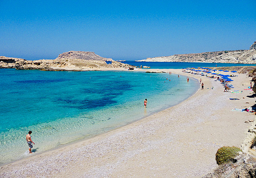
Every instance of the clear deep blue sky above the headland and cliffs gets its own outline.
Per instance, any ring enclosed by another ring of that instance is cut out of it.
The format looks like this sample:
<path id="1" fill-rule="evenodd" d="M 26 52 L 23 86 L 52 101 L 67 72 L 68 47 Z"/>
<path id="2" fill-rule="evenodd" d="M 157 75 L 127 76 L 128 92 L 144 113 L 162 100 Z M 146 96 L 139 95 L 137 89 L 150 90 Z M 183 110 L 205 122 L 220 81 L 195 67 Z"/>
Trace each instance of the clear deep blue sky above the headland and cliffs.
<path id="1" fill-rule="evenodd" d="M 114 60 L 249 49 L 256 1 L 0 1 L 0 56 Z"/>

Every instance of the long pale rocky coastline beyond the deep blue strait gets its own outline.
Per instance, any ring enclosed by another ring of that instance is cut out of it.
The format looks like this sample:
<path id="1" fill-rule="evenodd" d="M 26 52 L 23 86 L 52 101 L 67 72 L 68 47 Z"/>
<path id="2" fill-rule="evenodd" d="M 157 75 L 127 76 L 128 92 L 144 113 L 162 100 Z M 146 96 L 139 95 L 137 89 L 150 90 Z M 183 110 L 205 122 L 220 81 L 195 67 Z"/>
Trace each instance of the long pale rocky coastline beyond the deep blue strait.
<path id="1" fill-rule="evenodd" d="M 216 63 L 241 63 L 256 64 L 256 49 L 215 51 L 192 54 L 175 54 L 172 56 L 152 57 L 145 62 L 216 62 Z"/>

